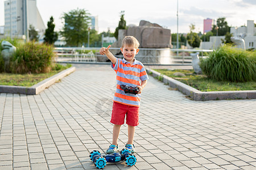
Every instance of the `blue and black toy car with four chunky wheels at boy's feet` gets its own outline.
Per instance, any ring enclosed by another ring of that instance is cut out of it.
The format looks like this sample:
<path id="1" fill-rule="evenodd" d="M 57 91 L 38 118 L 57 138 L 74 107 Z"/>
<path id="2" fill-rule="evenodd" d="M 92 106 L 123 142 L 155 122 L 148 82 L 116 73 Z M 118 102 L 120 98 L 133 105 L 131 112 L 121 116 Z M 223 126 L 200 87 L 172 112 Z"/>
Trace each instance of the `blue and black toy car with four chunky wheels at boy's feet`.
<path id="1" fill-rule="evenodd" d="M 133 166 L 137 162 L 136 157 L 131 154 L 131 151 L 122 149 L 119 153 L 101 155 L 100 151 L 94 150 L 90 152 L 90 160 L 94 162 L 94 165 L 98 169 L 103 169 L 106 166 L 106 163 L 117 163 L 125 160 L 125 163 L 128 166 Z"/>

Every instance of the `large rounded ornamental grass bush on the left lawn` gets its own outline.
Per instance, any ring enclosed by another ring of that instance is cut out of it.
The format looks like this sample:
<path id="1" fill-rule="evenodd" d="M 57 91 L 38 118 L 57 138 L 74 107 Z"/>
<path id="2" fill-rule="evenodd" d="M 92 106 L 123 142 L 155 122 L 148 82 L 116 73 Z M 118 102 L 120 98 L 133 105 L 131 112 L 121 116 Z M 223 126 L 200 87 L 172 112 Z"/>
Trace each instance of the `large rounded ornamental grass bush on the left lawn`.
<path id="1" fill-rule="evenodd" d="M 17 46 L 16 53 L 11 59 L 12 73 L 48 73 L 51 71 L 55 57 L 51 45 L 38 44 L 34 41 Z"/>

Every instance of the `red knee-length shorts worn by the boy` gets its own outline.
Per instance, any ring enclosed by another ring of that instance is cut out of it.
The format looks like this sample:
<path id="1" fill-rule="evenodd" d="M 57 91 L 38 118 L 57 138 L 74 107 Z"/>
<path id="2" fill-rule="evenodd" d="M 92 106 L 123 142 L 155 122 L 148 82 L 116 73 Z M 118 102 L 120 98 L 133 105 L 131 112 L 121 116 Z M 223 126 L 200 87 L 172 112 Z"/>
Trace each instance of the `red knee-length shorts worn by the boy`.
<path id="1" fill-rule="evenodd" d="M 139 125 L 139 107 L 121 104 L 114 101 L 110 122 L 115 125 L 123 125 L 125 123 L 125 115 L 127 125 Z"/>

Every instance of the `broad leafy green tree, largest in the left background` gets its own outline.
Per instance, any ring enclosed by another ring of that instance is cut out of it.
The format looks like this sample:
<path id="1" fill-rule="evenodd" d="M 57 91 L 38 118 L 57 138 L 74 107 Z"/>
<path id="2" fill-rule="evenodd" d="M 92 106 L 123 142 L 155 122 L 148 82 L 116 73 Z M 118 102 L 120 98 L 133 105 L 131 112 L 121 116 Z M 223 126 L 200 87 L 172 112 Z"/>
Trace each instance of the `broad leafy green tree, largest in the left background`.
<path id="1" fill-rule="evenodd" d="M 65 20 L 65 24 L 60 34 L 65 37 L 67 45 L 81 46 L 82 42 L 87 41 L 91 20 L 89 15 L 86 10 L 78 8 L 63 14 L 62 18 Z"/>

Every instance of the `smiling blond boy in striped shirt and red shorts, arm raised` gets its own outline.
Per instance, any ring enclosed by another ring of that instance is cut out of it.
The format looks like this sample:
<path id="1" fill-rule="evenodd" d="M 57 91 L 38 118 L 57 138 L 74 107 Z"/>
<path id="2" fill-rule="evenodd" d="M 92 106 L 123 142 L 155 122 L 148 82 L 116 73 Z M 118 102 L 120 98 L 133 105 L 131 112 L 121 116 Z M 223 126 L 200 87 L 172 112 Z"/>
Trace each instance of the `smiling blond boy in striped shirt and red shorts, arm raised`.
<path id="1" fill-rule="evenodd" d="M 112 68 L 117 73 L 117 89 L 113 99 L 112 117 L 110 122 L 113 126 L 113 142 L 106 151 L 111 154 L 118 151 L 118 136 L 121 125 L 124 124 L 126 115 L 126 124 L 128 125 L 128 141 L 125 146 L 131 153 L 135 152 L 133 145 L 133 138 L 135 133 L 135 126 L 139 124 L 139 105 L 141 104 L 141 92 L 147 84 L 147 73 L 141 62 L 134 57 L 139 52 L 139 42 L 133 36 L 126 36 L 122 41 L 121 52 L 123 59 L 116 58 L 109 48 L 102 47 L 100 49 L 101 55 L 106 55 L 111 63 Z M 128 85 L 138 87 L 137 95 L 125 94 L 120 85 Z"/>

